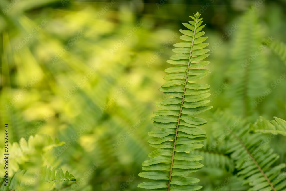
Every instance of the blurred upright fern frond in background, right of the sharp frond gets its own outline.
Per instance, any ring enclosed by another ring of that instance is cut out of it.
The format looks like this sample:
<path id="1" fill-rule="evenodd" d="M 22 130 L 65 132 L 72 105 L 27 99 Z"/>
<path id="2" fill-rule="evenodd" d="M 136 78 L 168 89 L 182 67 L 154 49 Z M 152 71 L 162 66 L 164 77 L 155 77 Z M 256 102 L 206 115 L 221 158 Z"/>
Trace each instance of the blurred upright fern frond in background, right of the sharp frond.
<path id="1" fill-rule="evenodd" d="M 256 13 L 252 10 L 242 15 L 235 31 L 229 68 L 230 85 L 227 90 L 231 109 L 236 115 L 248 118 L 255 111 L 255 99 L 264 90 L 266 62 L 261 45 Z"/>

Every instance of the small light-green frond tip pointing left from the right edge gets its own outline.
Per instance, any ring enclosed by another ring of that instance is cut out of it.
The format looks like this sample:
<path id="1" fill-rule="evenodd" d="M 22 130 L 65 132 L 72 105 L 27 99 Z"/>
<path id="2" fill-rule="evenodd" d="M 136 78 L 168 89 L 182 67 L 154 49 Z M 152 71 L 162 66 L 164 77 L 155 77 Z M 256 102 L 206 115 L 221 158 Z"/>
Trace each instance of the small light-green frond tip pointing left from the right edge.
<path id="1" fill-rule="evenodd" d="M 269 121 L 263 117 L 260 117 L 255 124 L 249 125 L 250 133 L 271 133 L 274 135 L 281 134 L 286 136 L 286 121 L 277 117 L 275 120 Z"/>

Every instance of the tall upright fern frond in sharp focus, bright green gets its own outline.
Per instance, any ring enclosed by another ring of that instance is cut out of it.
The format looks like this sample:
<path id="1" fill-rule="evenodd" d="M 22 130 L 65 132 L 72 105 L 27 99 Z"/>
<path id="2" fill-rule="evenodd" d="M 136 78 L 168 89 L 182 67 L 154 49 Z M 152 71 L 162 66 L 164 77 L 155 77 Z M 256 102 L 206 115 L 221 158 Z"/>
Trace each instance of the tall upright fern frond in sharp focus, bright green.
<path id="1" fill-rule="evenodd" d="M 155 111 L 154 125 L 161 128 L 149 133 L 148 143 L 154 148 L 148 156 L 150 160 L 142 163 L 142 169 L 147 172 L 140 177 L 153 179 L 152 182 L 143 182 L 140 188 L 160 190 L 199 190 L 202 186 L 196 185 L 200 180 L 187 175 L 202 168 L 198 161 L 202 156 L 189 153 L 203 144 L 198 142 L 206 139 L 205 131 L 199 127 L 206 124 L 206 120 L 194 117 L 212 107 L 206 106 L 210 96 L 210 86 L 206 84 L 190 83 L 201 79 L 210 73 L 206 69 L 194 69 L 208 65 L 202 61 L 209 55 L 204 49 L 208 43 L 203 43 L 208 37 L 203 37 L 201 30 L 202 18 L 199 13 L 190 16 L 193 21 L 183 23 L 189 30 L 180 30 L 183 34 L 180 39 L 185 42 L 174 44 L 172 51 L 178 53 L 170 57 L 167 62 L 176 65 L 165 71 L 170 73 L 164 79 L 169 80 L 162 85 L 160 91 L 172 96 L 156 106 L 163 110 Z"/>

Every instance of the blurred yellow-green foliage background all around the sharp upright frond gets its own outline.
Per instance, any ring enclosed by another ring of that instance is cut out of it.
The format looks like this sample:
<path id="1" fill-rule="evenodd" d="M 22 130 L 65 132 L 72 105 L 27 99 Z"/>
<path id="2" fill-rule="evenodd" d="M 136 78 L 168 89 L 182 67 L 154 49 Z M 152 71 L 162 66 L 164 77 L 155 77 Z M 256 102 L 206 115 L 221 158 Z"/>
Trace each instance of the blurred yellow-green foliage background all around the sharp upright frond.
<path id="1" fill-rule="evenodd" d="M 202 190 L 285 189 L 286 2 L 259 2 L 1 0 L 0 189 L 142 190 L 166 60 L 197 11 L 214 108 L 192 177 Z"/>

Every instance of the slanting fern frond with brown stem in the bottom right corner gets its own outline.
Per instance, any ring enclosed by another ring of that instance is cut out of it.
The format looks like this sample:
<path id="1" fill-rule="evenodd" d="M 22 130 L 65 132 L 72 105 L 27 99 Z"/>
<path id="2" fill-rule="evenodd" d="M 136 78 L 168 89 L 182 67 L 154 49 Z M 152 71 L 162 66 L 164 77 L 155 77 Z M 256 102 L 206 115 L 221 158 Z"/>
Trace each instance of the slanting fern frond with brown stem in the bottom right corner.
<path id="1" fill-rule="evenodd" d="M 214 117 L 223 127 L 229 128 L 220 119 L 223 115 L 221 112 Z M 225 154 L 230 154 L 235 162 L 237 176 L 245 179 L 244 184 L 251 186 L 249 190 L 285 190 L 286 176 L 281 172 L 285 164 L 273 165 L 279 155 L 264 143 L 263 136 L 260 133 L 249 134 L 248 126 L 231 132 L 231 136 L 233 138 L 226 143 L 228 149 Z"/>

